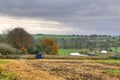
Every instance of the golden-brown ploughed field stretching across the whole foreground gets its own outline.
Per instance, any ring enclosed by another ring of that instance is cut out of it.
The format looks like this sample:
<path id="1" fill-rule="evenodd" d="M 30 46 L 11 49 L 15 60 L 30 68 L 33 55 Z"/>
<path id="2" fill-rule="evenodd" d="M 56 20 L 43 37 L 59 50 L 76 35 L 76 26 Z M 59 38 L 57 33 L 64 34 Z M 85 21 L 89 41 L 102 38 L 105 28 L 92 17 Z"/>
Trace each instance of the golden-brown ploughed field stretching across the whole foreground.
<path id="1" fill-rule="evenodd" d="M 120 60 L 8 60 L 17 80 L 120 80 Z"/>

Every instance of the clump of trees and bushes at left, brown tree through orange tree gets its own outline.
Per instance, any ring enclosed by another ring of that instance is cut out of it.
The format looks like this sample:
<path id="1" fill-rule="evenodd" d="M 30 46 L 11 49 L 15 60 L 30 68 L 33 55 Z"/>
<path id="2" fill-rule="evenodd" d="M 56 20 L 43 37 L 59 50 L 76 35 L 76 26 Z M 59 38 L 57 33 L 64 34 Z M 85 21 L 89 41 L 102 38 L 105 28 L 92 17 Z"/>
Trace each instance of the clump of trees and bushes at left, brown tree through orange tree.
<path id="1" fill-rule="evenodd" d="M 58 46 L 53 39 L 44 38 L 36 44 L 32 35 L 19 27 L 0 37 L 1 54 L 17 53 L 18 50 L 23 54 L 58 54 Z"/>

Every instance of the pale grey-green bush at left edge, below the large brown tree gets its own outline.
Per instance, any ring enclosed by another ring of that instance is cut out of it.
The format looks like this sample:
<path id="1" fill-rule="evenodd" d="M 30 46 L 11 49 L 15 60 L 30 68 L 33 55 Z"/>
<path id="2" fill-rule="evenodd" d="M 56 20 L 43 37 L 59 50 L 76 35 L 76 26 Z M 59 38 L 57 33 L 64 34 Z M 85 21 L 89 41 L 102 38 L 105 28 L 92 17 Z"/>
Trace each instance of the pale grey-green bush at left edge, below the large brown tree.
<path id="1" fill-rule="evenodd" d="M 2 55 L 9 55 L 9 54 L 20 54 L 21 51 L 13 48 L 12 46 L 6 43 L 0 43 L 0 54 Z"/>

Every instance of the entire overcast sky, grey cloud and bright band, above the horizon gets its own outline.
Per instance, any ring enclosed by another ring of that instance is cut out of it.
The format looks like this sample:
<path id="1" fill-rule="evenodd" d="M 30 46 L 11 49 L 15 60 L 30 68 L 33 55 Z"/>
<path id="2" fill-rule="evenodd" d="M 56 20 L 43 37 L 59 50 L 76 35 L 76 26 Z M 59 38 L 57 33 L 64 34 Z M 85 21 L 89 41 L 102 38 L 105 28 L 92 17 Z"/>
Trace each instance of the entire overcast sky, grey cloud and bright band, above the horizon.
<path id="1" fill-rule="evenodd" d="M 0 33 L 120 35 L 120 0 L 0 0 Z"/>

